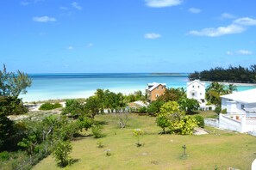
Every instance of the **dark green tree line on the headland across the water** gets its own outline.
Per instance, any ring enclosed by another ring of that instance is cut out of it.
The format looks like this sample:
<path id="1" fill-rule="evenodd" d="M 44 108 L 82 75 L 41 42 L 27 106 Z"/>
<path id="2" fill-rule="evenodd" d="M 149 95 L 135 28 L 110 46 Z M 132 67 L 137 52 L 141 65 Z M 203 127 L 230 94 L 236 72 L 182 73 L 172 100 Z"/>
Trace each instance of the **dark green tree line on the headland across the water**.
<path id="1" fill-rule="evenodd" d="M 200 79 L 211 82 L 256 82 L 256 64 L 249 68 L 238 66 L 229 66 L 228 69 L 216 67 L 201 72 L 195 71 L 189 75 L 190 81 Z"/>

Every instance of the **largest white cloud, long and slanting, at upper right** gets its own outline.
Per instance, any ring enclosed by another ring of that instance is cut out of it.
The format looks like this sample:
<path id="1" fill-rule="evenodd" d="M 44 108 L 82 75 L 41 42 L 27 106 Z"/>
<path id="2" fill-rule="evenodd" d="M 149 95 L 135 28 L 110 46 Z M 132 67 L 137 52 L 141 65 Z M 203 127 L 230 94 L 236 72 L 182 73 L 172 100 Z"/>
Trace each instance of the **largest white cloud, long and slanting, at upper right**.
<path id="1" fill-rule="evenodd" d="M 199 31 L 192 30 L 189 32 L 189 34 L 198 36 L 218 37 L 232 33 L 243 33 L 247 30 L 247 26 L 254 25 L 256 25 L 256 20 L 252 18 L 239 18 L 237 20 L 234 20 L 232 24 L 226 27 L 207 27 Z"/>

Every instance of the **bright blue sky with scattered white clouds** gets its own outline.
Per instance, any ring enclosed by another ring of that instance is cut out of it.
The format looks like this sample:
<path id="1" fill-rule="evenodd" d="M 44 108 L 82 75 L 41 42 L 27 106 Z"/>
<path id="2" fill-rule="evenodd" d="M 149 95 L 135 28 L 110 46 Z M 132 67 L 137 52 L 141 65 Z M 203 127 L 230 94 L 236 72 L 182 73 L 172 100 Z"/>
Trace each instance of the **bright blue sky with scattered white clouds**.
<path id="1" fill-rule="evenodd" d="M 254 0 L 0 2 L 0 64 L 28 73 L 256 64 Z"/>

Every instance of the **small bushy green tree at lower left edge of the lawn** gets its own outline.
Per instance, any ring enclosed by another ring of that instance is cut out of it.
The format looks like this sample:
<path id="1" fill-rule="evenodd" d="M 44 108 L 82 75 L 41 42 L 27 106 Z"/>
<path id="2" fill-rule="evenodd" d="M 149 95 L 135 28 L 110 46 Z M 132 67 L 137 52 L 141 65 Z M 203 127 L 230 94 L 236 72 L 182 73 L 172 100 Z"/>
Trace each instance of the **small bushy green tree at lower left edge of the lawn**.
<path id="1" fill-rule="evenodd" d="M 55 141 L 53 145 L 53 156 L 56 161 L 60 161 L 60 166 L 65 167 L 68 164 L 69 155 L 72 151 L 70 141 Z"/>

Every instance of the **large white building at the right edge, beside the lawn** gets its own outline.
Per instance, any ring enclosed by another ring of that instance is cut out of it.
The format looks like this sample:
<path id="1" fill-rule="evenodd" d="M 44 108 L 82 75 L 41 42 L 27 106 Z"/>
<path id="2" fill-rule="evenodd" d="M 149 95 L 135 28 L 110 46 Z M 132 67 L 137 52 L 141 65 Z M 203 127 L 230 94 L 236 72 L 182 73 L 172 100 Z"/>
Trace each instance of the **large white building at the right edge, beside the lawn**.
<path id="1" fill-rule="evenodd" d="M 256 131 L 256 88 L 222 95 L 222 110 L 219 127 L 231 131 Z"/>

